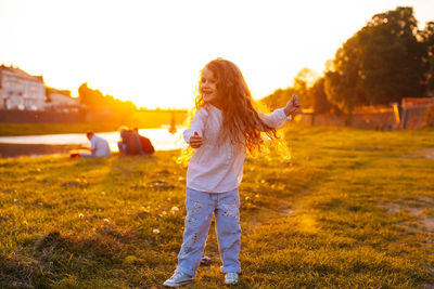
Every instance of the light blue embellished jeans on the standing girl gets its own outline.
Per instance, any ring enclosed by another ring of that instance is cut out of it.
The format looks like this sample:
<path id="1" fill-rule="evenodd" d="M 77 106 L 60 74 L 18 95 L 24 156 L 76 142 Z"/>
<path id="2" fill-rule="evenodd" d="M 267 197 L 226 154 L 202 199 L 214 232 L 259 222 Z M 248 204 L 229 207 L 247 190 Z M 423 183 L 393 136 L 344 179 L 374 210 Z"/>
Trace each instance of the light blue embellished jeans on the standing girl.
<path id="1" fill-rule="evenodd" d="M 187 188 L 187 216 L 183 244 L 178 254 L 177 271 L 196 274 L 205 249 L 210 220 L 216 218 L 216 232 L 222 273 L 240 272 L 240 197 L 238 189 L 227 193 L 205 193 Z"/>

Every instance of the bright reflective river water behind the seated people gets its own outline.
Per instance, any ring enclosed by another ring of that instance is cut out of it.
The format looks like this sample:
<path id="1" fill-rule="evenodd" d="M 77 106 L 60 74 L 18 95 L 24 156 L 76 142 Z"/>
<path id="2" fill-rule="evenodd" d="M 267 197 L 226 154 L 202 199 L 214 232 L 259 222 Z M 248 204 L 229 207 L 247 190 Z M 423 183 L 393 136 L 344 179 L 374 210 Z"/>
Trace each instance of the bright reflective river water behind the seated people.
<path id="1" fill-rule="evenodd" d="M 186 146 L 182 140 L 182 129 L 174 134 L 167 129 L 142 129 L 139 133 L 151 140 L 155 150 L 171 150 Z M 108 142 L 112 152 L 118 152 L 117 142 L 119 141 L 119 132 L 99 132 L 97 135 Z M 22 136 L 0 136 L 0 143 L 5 144 L 49 144 L 49 145 L 85 145 L 89 146 L 90 142 L 85 133 L 67 133 L 67 134 L 43 134 L 43 135 L 22 135 Z"/>

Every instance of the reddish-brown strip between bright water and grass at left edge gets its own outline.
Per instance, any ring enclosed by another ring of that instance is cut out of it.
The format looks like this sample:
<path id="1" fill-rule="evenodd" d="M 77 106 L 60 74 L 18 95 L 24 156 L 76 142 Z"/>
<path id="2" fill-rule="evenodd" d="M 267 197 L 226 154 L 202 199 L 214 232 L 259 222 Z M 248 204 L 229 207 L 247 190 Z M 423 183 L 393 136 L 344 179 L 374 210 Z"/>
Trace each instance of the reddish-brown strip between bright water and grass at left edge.
<path id="1" fill-rule="evenodd" d="M 81 145 L 0 144 L 0 158 L 42 155 L 69 155 L 72 150 L 85 150 Z"/>

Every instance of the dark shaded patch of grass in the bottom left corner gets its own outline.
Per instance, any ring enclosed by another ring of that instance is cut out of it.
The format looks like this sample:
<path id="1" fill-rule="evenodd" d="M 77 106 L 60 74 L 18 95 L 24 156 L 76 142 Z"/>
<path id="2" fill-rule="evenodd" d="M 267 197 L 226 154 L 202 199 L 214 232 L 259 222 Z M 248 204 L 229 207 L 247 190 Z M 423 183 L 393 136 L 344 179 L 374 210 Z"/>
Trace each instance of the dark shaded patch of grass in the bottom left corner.
<path id="1" fill-rule="evenodd" d="M 51 232 L 35 240 L 30 257 L 0 255 L 0 283 L 5 288 L 49 288 L 69 274 L 91 279 L 122 264 L 122 251 L 118 242 L 102 235 L 78 238 Z"/>

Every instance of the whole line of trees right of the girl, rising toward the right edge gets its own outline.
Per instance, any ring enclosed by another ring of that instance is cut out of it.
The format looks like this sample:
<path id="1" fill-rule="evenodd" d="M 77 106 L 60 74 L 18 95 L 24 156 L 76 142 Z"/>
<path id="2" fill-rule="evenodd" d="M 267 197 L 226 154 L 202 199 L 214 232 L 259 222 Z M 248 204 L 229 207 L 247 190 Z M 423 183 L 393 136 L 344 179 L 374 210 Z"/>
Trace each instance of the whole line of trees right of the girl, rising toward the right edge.
<path id="1" fill-rule="evenodd" d="M 357 106 L 424 96 L 434 90 L 434 22 L 419 30 L 412 8 L 376 14 L 337 49 L 321 77 L 312 75 L 303 68 L 293 87 L 261 102 L 275 109 L 297 94 L 315 113 L 350 115 Z"/>

